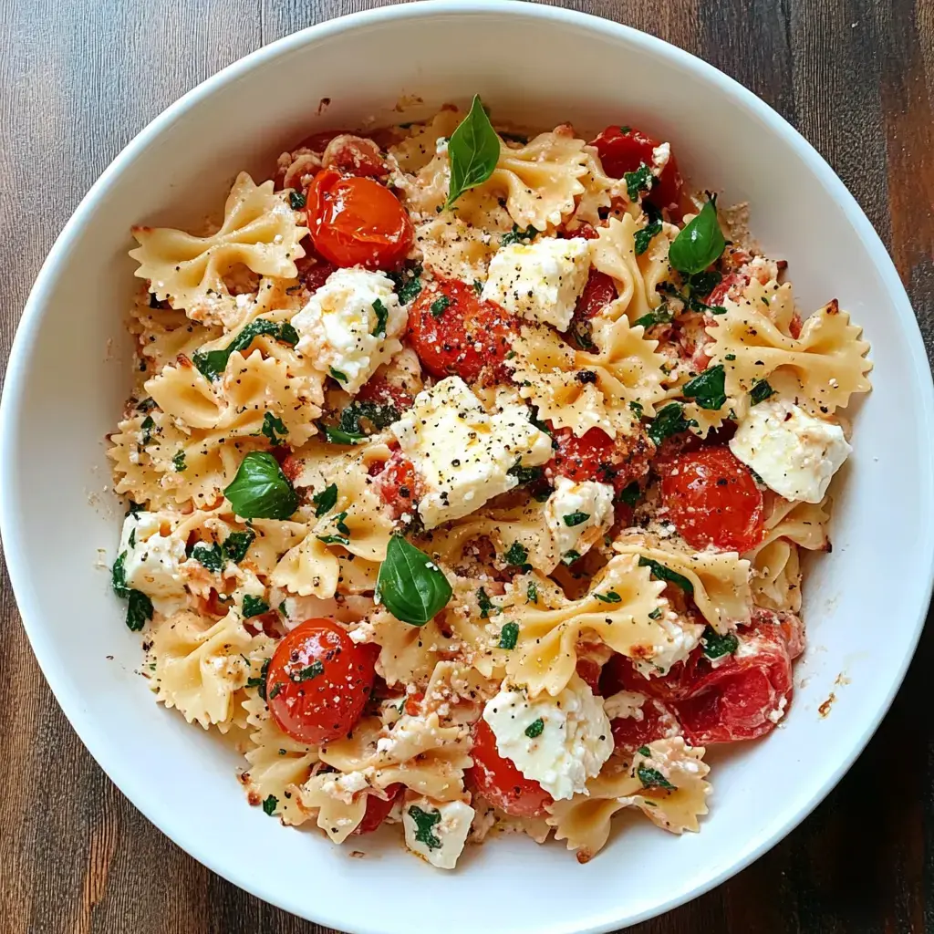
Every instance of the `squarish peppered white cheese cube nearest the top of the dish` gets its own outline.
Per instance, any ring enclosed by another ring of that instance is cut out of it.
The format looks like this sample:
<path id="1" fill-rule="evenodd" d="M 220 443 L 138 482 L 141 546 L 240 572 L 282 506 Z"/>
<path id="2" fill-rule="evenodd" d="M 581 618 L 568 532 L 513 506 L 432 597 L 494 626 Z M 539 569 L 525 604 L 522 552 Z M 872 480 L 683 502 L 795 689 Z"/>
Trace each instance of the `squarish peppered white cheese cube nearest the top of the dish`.
<path id="1" fill-rule="evenodd" d="M 589 271 L 590 248 L 583 237 L 543 237 L 528 247 L 512 244 L 490 260 L 483 298 L 514 315 L 567 331 Z"/>

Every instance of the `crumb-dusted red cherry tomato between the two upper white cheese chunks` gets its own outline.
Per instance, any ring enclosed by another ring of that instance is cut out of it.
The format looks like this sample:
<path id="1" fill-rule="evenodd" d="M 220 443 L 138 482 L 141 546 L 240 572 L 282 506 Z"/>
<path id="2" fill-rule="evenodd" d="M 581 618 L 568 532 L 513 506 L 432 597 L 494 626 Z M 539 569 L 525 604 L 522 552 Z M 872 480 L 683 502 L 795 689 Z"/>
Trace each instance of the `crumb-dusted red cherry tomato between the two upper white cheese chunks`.
<path id="1" fill-rule="evenodd" d="M 508 383 L 503 361 L 516 333 L 516 318 L 457 279 L 436 280 L 409 308 L 409 340 L 432 376 Z"/>

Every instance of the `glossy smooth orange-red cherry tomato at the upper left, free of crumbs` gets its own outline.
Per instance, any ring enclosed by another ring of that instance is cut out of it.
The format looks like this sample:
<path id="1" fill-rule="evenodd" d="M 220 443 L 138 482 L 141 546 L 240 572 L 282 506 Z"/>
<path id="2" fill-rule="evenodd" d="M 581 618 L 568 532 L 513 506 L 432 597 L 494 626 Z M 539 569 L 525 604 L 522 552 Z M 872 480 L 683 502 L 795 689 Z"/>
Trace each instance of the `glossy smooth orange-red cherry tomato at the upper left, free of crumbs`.
<path id="1" fill-rule="evenodd" d="M 412 246 L 408 213 L 372 178 L 323 169 L 308 187 L 306 209 L 315 248 L 338 266 L 392 269 Z"/>

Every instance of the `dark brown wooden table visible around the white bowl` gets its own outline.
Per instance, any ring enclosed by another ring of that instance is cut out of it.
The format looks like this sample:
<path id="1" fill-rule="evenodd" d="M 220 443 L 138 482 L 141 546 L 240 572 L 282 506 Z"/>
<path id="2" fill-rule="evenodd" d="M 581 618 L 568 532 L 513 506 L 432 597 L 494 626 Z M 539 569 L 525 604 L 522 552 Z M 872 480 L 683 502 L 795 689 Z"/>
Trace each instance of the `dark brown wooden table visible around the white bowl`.
<path id="1" fill-rule="evenodd" d="M 797 126 L 882 234 L 932 346 L 934 0 L 559 5 L 629 23 L 700 55 Z M 264 43 L 373 6 L 370 0 L 4 0 L 0 359 L 7 359 L 55 235 L 138 130 Z M 5 574 L 0 932 L 322 932 L 219 879 L 123 799 L 64 719 L 18 620 Z M 885 626 L 897 625 L 880 620 L 880 638 Z M 934 931 L 932 665 L 928 631 L 883 728 L 801 828 L 728 884 L 634 930 Z"/>

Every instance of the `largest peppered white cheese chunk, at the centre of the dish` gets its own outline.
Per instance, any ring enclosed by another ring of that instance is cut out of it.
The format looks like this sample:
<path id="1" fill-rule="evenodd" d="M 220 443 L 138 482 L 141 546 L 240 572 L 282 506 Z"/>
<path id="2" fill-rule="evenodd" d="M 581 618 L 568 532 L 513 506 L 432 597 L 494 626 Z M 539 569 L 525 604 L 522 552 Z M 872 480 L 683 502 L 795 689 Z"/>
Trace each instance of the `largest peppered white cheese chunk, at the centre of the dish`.
<path id="1" fill-rule="evenodd" d="M 412 461 L 423 493 L 418 513 L 426 529 L 467 516 L 517 486 L 509 471 L 551 459 L 551 439 L 532 425 L 529 409 L 501 395 L 492 412 L 460 376 L 423 389 L 391 428 Z"/>

